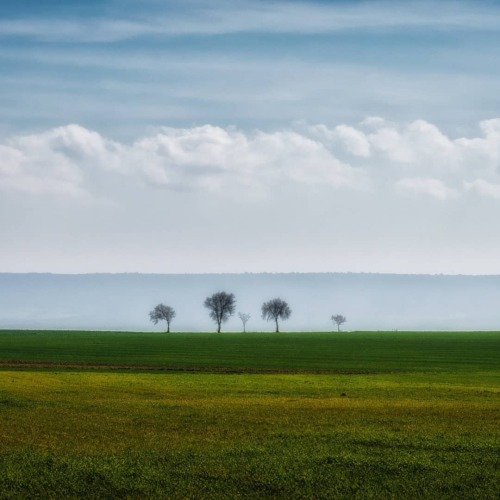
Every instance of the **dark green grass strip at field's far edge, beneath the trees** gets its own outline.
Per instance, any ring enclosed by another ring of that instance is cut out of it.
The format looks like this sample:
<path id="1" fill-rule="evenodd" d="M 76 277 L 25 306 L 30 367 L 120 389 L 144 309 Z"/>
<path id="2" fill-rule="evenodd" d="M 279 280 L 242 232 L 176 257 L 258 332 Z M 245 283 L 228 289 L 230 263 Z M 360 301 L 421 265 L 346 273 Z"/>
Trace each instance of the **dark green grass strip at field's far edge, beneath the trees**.
<path id="1" fill-rule="evenodd" d="M 494 370 L 498 332 L 141 333 L 0 331 L 0 363 L 187 370 Z"/>

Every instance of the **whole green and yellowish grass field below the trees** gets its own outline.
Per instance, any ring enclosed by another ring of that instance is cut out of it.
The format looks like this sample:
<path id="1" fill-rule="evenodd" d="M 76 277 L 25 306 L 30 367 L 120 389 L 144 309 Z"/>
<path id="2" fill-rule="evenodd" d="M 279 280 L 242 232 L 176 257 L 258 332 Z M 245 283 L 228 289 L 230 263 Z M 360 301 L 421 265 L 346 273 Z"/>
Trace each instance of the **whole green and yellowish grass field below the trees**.
<path id="1" fill-rule="evenodd" d="M 498 498 L 500 334 L 0 331 L 1 498 Z"/>

